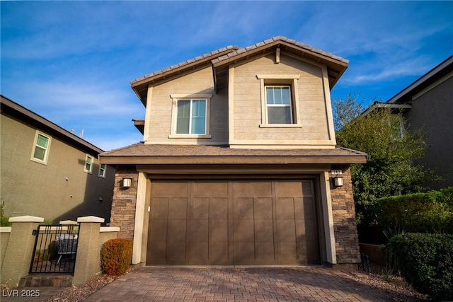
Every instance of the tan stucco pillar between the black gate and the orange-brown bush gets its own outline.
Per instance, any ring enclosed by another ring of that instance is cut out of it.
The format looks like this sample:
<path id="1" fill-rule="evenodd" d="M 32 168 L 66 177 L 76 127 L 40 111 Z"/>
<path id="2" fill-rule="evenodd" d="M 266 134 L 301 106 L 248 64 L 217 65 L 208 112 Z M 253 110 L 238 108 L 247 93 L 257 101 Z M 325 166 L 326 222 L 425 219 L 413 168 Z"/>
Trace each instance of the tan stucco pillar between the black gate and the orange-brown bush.
<path id="1" fill-rule="evenodd" d="M 101 271 L 101 245 L 99 232 L 103 218 L 96 216 L 79 217 L 79 237 L 77 239 L 77 255 L 74 267 L 74 285 L 81 286 Z"/>

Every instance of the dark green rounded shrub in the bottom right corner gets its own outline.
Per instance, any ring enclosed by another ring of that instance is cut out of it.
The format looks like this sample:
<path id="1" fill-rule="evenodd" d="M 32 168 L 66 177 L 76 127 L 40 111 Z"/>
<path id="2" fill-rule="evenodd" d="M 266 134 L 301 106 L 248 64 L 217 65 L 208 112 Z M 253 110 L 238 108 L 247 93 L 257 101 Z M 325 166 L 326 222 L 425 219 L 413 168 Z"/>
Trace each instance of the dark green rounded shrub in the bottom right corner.
<path id="1" fill-rule="evenodd" d="M 406 233 L 387 247 L 414 289 L 437 301 L 453 300 L 453 235 Z"/>

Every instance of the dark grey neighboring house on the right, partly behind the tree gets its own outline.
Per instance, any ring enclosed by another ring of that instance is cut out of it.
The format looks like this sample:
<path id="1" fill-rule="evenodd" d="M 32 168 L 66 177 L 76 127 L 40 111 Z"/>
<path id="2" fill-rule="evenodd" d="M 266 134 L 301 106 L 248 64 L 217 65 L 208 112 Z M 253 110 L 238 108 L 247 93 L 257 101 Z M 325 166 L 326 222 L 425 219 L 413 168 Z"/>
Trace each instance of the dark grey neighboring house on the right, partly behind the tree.
<path id="1" fill-rule="evenodd" d="M 377 108 L 401 110 L 407 121 L 405 131 L 425 133 L 428 151 L 416 161 L 444 176 L 431 182 L 431 189 L 453 186 L 453 56 L 435 66 L 386 103 L 374 103 L 365 114 Z"/>

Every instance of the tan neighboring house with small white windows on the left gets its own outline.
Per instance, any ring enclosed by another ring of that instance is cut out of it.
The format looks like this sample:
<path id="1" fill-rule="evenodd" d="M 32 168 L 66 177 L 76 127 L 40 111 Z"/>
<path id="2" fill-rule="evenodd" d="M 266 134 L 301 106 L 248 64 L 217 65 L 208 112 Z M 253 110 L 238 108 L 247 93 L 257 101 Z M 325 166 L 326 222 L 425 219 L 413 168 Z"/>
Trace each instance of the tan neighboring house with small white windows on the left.
<path id="1" fill-rule="evenodd" d="M 3 95 L 0 131 L 5 216 L 110 221 L 115 168 L 99 163 L 103 150 Z"/>

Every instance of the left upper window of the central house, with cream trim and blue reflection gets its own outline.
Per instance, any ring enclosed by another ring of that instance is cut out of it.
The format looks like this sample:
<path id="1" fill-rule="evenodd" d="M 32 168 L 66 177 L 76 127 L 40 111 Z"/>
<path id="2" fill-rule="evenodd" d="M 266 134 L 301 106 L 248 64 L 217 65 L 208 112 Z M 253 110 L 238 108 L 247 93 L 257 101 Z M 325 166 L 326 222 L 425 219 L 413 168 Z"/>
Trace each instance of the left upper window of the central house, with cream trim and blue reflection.
<path id="1" fill-rule="evenodd" d="M 212 94 L 171 94 L 173 120 L 170 138 L 210 138 Z"/>

